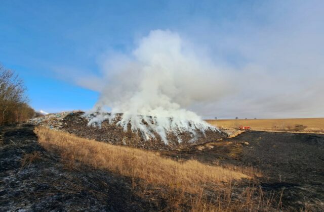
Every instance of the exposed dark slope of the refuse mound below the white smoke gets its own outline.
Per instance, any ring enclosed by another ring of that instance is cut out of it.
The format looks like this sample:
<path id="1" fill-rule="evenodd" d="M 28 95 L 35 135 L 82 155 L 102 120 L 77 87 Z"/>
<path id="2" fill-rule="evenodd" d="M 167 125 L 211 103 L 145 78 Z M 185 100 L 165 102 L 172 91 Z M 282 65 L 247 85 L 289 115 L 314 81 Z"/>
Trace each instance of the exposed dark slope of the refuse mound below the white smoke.
<path id="1" fill-rule="evenodd" d="M 177 135 L 169 133 L 167 135 L 169 144 L 166 145 L 157 134 L 155 134 L 155 139 L 145 140 L 140 132 L 132 132 L 130 126 L 128 131 L 125 132 L 123 127 L 117 125 L 116 122 L 109 124 L 108 120 L 103 121 L 100 127 L 88 126 L 89 120 L 84 118 L 83 114 L 84 112 L 80 111 L 50 114 L 34 119 L 33 122 L 51 129 L 63 130 L 79 137 L 145 149 L 185 148 L 195 144 L 215 141 L 227 136 L 224 132 L 214 130 L 206 130 L 205 133 L 197 130 L 194 137 L 189 132 L 181 132 L 178 133 L 178 137 L 182 140 L 179 143 Z"/>

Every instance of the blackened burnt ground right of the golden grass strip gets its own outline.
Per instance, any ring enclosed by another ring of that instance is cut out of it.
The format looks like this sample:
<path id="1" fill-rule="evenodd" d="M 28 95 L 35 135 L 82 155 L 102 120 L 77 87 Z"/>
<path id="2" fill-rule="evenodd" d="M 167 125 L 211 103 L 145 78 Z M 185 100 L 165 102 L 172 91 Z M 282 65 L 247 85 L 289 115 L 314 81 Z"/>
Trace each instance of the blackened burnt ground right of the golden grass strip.
<path id="1" fill-rule="evenodd" d="M 324 210 L 324 135 L 248 131 L 164 155 L 208 164 L 253 167 L 263 190 L 282 193 L 282 205 Z"/>

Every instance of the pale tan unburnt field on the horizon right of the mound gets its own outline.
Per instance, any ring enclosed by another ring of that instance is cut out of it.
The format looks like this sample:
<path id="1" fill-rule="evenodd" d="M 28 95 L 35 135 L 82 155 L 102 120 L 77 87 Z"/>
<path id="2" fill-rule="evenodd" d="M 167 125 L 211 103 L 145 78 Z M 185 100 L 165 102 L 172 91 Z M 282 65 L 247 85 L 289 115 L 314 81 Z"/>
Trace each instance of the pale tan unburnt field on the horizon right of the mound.
<path id="1" fill-rule="evenodd" d="M 324 118 L 306 119 L 224 119 L 205 120 L 211 125 L 221 128 L 238 128 L 250 126 L 252 130 L 264 131 L 299 131 L 299 132 L 324 132 Z M 299 126 L 298 126 L 299 125 Z M 297 127 L 296 127 L 297 126 Z"/>

